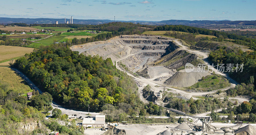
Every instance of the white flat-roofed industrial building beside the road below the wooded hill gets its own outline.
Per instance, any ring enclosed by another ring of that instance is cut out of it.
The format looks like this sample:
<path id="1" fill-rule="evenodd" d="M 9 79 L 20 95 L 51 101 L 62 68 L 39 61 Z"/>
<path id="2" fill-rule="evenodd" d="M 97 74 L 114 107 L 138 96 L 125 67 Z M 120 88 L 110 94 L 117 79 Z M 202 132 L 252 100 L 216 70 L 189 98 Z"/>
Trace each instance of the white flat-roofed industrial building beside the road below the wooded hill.
<path id="1" fill-rule="evenodd" d="M 96 115 L 94 118 L 84 118 L 84 127 L 103 127 L 105 126 L 105 115 Z"/>

